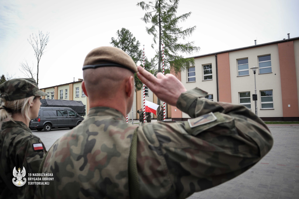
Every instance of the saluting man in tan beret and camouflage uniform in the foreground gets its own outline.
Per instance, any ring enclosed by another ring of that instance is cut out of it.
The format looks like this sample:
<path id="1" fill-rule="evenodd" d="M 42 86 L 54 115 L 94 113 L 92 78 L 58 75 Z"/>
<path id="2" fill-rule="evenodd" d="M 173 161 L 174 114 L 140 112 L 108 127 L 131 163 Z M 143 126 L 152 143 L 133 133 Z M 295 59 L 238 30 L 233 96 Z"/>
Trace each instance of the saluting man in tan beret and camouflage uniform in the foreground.
<path id="1" fill-rule="evenodd" d="M 137 70 L 159 99 L 191 118 L 126 123 Z M 91 50 L 83 78 L 89 113 L 49 150 L 41 168 L 54 180 L 39 198 L 187 198 L 245 172 L 273 145 L 267 126 L 245 106 L 206 100 L 207 92 L 187 91 L 171 74 L 155 77 L 118 48 Z"/>

